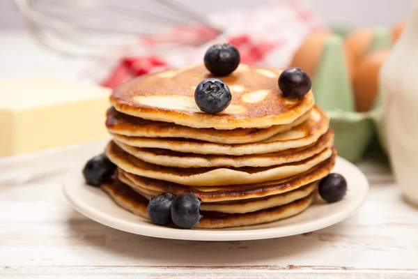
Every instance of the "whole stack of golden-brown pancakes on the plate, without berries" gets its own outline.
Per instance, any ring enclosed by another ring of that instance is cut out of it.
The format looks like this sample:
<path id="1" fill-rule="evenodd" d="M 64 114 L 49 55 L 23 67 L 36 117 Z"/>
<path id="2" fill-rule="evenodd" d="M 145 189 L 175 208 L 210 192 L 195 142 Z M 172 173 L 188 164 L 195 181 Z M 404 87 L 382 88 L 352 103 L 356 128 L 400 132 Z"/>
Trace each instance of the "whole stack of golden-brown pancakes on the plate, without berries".
<path id="1" fill-rule="evenodd" d="M 117 165 L 102 185 L 114 201 L 148 218 L 160 193 L 202 200 L 197 227 L 272 222 L 307 209 L 336 151 L 327 115 L 311 92 L 284 98 L 280 70 L 240 65 L 222 80 L 232 93 L 219 114 L 201 112 L 196 85 L 212 77 L 204 66 L 146 75 L 111 95 L 106 153 Z"/>

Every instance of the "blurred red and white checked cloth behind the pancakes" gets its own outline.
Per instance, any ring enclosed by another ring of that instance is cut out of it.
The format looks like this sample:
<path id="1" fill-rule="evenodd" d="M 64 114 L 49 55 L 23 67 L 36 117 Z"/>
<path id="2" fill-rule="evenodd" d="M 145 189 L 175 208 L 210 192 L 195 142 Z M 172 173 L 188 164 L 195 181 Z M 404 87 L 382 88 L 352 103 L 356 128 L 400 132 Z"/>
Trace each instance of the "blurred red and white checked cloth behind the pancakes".
<path id="1" fill-rule="evenodd" d="M 164 44 L 180 47 L 158 55 L 123 57 L 102 85 L 115 88 L 132 77 L 202 63 L 210 45 L 225 42 L 238 48 L 241 63 L 286 67 L 303 38 L 314 29 L 323 28 L 304 1 L 231 10 L 211 15 L 208 21 L 222 33 L 207 27 L 174 27 L 164 36 L 140 38 L 141 45 L 148 47 L 150 53 Z"/>

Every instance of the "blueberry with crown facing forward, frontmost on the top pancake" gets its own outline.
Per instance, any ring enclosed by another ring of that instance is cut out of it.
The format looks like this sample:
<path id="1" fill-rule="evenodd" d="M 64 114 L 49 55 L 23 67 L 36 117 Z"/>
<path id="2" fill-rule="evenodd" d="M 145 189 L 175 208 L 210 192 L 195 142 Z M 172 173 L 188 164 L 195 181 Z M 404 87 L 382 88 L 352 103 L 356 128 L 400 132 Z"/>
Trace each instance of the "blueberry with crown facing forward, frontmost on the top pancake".
<path id="1" fill-rule="evenodd" d="M 194 101 L 203 112 L 216 114 L 231 103 L 231 91 L 223 80 L 210 78 L 201 81 L 194 91 Z"/>

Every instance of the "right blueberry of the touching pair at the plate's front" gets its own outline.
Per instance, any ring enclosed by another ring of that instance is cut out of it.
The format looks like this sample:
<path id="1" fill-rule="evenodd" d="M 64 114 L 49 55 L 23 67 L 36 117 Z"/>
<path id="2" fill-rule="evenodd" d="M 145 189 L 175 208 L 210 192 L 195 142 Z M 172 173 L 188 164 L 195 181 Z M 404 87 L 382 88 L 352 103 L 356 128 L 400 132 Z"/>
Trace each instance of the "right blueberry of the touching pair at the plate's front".
<path id="1" fill-rule="evenodd" d="M 190 193 L 183 193 L 176 197 L 171 204 L 171 219 L 180 229 L 192 229 L 201 220 L 199 213 L 201 199 Z"/>

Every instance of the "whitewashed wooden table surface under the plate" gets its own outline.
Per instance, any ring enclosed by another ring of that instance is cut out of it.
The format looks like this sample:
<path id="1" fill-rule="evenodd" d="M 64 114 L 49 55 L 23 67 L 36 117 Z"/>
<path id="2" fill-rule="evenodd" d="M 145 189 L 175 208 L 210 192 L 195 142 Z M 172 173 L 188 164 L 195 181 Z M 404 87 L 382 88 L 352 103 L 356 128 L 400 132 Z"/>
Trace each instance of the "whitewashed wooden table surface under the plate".
<path id="1" fill-rule="evenodd" d="M 369 198 L 332 227 L 262 241 L 172 241 L 105 227 L 65 201 L 66 169 L 102 145 L 0 159 L 0 277 L 418 278 L 418 209 L 385 164 L 360 164 Z"/>

